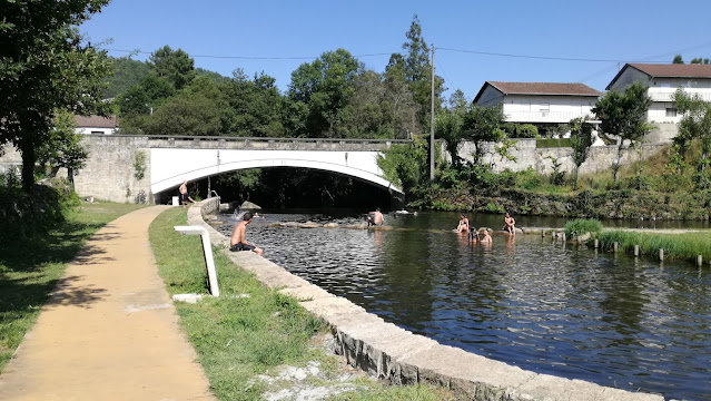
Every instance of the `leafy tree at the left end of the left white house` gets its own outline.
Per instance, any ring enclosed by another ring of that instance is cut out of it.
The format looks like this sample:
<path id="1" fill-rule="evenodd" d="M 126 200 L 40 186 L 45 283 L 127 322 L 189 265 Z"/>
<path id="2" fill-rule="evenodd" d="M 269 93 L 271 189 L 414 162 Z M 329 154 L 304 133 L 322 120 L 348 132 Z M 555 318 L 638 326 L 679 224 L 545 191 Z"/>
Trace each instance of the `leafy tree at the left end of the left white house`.
<path id="1" fill-rule="evenodd" d="M 482 107 L 471 105 L 464 115 L 464 137 L 474 143 L 475 155 L 474 162 L 481 164 L 483 162 L 484 143 L 501 143 L 504 141 L 502 147 L 497 150 L 503 150 L 502 157 L 505 157 L 506 149 L 510 143 L 506 141 L 506 134 L 501 129 L 504 123 L 504 113 L 501 105 L 493 107 Z"/>

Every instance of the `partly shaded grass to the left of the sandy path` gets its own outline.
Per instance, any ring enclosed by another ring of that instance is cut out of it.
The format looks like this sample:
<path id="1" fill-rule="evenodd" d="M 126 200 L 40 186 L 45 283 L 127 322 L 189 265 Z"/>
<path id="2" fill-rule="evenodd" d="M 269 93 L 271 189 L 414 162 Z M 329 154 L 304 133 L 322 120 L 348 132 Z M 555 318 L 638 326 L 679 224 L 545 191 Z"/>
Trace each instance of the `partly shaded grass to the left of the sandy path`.
<path id="1" fill-rule="evenodd" d="M 2 238 L 0 372 L 24 333 L 34 324 L 40 307 L 83 243 L 107 223 L 139 207 L 111 203 L 82 204 L 66 212 L 66 221 L 48 232 Z"/>

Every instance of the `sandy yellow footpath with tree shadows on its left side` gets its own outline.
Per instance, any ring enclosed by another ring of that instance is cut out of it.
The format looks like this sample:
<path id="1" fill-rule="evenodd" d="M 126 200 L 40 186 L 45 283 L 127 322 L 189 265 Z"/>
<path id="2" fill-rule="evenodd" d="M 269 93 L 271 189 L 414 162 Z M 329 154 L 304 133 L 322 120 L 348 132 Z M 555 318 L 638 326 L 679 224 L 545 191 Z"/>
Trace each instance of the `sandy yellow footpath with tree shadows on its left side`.
<path id="1" fill-rule="evenodd" d="M 166 207 L 86 244 L 0 375 L 0 400 L 214 400 L 148 242 Z"/>

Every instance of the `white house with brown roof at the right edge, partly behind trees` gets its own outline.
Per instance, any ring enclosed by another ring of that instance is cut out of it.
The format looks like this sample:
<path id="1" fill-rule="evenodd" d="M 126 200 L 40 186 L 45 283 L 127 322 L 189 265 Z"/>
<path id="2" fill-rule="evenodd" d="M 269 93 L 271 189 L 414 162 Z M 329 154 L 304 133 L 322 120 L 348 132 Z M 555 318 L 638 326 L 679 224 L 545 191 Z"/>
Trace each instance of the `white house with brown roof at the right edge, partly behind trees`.
<path id="1" fill-rule="evenodd" d="M 652 106 L 646 111 L 646 120 L 658 127 L 661 124 L 675 125 L 681 119 L 673 100 L 679 88 L 711 101 L 711 65 L 626 63 L 606 89 L 624 90 L 634 81 L 649 87 L 648 95 L 652 98 Z"/>

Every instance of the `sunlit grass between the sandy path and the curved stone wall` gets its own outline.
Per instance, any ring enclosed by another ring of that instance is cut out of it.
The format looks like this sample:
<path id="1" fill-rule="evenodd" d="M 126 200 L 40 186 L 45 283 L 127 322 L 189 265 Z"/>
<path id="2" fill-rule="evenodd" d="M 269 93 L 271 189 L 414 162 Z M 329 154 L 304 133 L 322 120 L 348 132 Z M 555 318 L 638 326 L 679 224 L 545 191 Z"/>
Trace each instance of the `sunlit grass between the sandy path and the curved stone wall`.
<path id="1" fill-rule="evenodd" d="M 170 294 L 207 294 L 200 238 L 179 235 L 172 228 L 186 223 L 182 208 L 160 214 L 150 226 L 154 255 Z M 295 299 L 261 285 L 220 250 L 214 251 L 220 297 L 175 305 L 215 395 L 219 400 L 259 400 L 264 391 L 274 389 L 255 376 L 274 372 L 282 364 L 304 366 L 315 360 L 334 375 L 338 360 L 309 346 L 312 338 L 325 330 L 325 323 Z M 429 385 L 387 387 L 369 380 L 356 380 L 354 384 L 359 390 L 334 399 L 453 399 L 446 390 Z"/>

